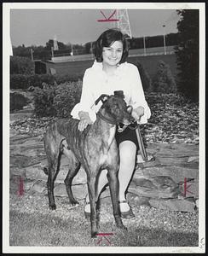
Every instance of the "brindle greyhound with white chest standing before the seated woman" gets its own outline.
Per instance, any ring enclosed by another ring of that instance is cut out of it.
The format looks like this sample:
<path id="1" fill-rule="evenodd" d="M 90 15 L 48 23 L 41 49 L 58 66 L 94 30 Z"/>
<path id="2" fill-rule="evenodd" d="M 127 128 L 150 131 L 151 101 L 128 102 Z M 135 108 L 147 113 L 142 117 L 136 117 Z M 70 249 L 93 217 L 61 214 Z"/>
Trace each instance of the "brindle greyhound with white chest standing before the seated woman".
<path id="1" fill-rule="evenodd" d="M 72 195 L 72 179 L 78 173 L 80 166 L 87 174 L 87 184 L 90 196 L 91 237 L 98 230 L 97 208 L 97 177 L 101 170 L 107 169 L 107 179 L 113 203 L 113 215 L 120 229 L 126 230 L 120 218 L 118 209 L 118 146 L 114 135 L 119 123 L 130 125 L 134 122 L 130 111 L 132 108 L 124 102 L 124 93 L 114 91 L 114 95 L 101 95 L 95 105 L 102 105 L 97 113 L 95 123 L 88 125 L 84 131 L 78 130 L 78 119 L 58 119 L 52 121 L 44 134 L 44 148 L 48 160 L 48 196 L 49 208 L 55 210 L 54 183 L 60 169 L 61 155 L 69 160 L 69 172 L 65 178 L 66 191 L 72 205 L 78 204 Z"/>

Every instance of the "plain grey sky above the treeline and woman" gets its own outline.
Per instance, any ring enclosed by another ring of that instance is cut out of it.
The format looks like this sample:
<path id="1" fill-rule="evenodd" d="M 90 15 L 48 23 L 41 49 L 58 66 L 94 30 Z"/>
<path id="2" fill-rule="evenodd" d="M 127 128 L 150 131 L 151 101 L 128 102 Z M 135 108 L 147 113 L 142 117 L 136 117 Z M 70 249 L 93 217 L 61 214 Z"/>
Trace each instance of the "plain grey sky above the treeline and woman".
<path id="1" fill-rule="evenodd" d="M 55 37 L 64 44 L 95 41 L 113 22 L 99 22 L 115 9 L 10 9 L 10 38 L 13 46 L 43 45 Z M 135 38 L 177 32 L 176 9 L 127 9 Z M 115 15 L 113 17 L 116 17 Z M 112 17 L 112 18 L 113 18 Z M 165 25 L 165 27 L 163 27 Z"/>

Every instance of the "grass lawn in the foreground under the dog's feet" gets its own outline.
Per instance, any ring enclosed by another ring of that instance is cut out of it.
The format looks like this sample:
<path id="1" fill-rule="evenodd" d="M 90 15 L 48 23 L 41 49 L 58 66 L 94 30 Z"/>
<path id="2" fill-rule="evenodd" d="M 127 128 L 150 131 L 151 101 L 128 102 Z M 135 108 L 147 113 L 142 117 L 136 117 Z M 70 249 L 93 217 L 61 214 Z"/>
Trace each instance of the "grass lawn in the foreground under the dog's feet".
<path id="1" fill-rule="evenodd" d="M 67 198 L 55 197 L 57 209 L 49 210 L 48 198 L 38 194 L 10 194 L 10 246 L 61 247 L 193 247 L 198 246 L 198 213 L 168 212 L 139 207 L 130 200 L 136 218 L 124 219 L 128 231 L 115 226 L 110 199 L 101 202 L 100 233 L 113 233 L 109 242 L 90 238 L 84 218 L 84 201 L 77 207 Z M 188 220 L 188 222 L 187 222 Z"/>

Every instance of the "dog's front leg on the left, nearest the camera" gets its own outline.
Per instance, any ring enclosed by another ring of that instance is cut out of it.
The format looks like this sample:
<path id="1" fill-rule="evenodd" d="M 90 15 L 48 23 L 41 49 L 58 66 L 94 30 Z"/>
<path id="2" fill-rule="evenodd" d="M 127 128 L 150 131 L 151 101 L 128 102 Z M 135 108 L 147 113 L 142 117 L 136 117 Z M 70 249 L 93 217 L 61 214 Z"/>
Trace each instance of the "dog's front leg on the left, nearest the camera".
<path id="1" fill-rule="evenodd" d="M 95 237 L 97 234 L 96 225 L 96 204 L 95 204 L 95 180 L 96 177 L 90 177 L 88 175 L 88 193 L 90 197 L 90 222 L 91 222 L 91 237 Z"/>

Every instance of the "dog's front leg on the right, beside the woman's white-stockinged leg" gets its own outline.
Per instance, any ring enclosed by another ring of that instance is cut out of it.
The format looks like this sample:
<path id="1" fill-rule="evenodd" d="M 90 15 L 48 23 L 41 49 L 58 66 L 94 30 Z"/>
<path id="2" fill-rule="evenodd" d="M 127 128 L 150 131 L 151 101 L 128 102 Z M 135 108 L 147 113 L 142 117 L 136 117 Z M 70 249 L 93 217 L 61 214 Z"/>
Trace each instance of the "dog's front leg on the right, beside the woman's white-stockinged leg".
<path id="1" fill-rule="evenodd" d="M 116 225 L 119 229 L 127 230 L 124 226 L 120 214 L 119 214 L 119 208 L 118 208 L 118 177 L 116 169 L 113 167 L 107 168 L 107 179 L 110 187 L 111 192 L 111 199 L 113 204 L 113 215 L 116 221 Z"/>

